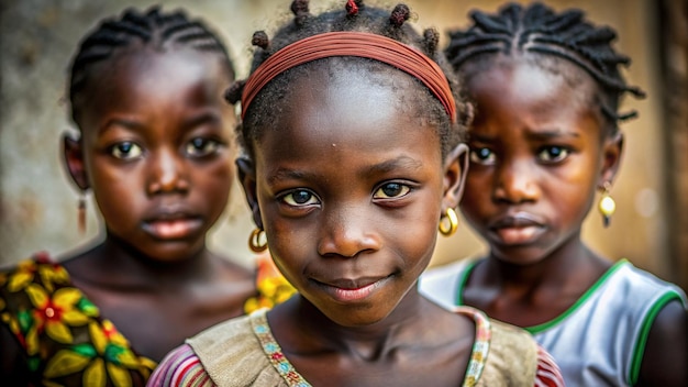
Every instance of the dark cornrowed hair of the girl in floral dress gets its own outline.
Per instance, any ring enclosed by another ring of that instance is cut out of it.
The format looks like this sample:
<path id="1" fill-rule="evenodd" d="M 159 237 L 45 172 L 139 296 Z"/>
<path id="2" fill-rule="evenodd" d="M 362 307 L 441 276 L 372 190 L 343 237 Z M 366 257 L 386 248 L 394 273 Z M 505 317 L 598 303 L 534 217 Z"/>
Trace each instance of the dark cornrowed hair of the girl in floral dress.
<path id="1" fill-rule="evenodd" d="M 165 13 L 158 7 L 146 13 L 134 9 L 125 10 L 118 19 L 103 20 L 79 44 L 70 66 L 69 101 L 71 118 L 78 123 L 80 106 L 77 97 L 95 75 L 95 65 L 111 58 L 118 49 L 131 47 L 136 43 L 157 48 L 184 45 L 193 49 L 219 54 L 234 79 L 234 67 L 221 40 L 199 20 L 189 20 L 184 11 Z"/>

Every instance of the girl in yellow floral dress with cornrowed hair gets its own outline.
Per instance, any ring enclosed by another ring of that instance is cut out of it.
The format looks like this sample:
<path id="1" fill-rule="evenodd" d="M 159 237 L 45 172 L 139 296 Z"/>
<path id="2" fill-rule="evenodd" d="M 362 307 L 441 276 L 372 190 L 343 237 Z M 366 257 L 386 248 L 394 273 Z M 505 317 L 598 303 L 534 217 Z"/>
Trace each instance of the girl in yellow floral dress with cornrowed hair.
<path id="1" fill-rule="evenodd" d="M 80 135 L 64 151 L 106 239 L 0 274 L 0 379 L 143 385 L 185 338 L 243 313 L 254 274 L 206 247 L 234 178 L 233 80 L 218 36 L 180 11 L 127 10 L 84 38 L 69 85 Z"/>

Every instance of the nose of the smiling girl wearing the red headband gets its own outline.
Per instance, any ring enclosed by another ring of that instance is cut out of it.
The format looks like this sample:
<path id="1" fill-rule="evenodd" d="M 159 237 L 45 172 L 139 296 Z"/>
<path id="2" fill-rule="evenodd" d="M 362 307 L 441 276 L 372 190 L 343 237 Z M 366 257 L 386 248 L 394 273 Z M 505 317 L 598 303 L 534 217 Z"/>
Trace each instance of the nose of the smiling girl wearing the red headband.
<path id="1" fill-rule="evenodd" d="M 374 231 L 374 223 L 365 211 L 352 207 L 339 208 L 335 212 L 325 213 L 324 219 L 318 243 L 321 256 L 353 258 L 380 248 L 380 235 Z"/>

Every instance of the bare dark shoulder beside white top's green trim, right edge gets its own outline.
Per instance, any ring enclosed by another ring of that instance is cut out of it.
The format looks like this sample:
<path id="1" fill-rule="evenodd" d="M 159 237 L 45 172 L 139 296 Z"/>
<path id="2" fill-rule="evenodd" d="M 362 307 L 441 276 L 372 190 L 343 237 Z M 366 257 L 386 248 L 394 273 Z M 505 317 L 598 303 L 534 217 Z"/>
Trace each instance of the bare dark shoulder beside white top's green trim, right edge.
<path id="1" fill-rule="evenodd" d="M 688 313 L 679 300 L 659 310 L 643 354 L 637 386 L 688 385 Z"/>

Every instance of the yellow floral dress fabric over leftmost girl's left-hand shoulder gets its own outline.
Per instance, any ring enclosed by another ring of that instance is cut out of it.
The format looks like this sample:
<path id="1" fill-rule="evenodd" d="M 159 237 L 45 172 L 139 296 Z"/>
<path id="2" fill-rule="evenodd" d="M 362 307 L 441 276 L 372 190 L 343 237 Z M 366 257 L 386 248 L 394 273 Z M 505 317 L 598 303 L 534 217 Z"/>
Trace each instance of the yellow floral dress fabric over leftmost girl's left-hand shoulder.
<path id="1" fill-rule="evenodd" d="M 43 386 L 141 386 L 156 366 L 47 254 L 0 273 L 0 320 L 25 351 L 32 382 Z"/>

